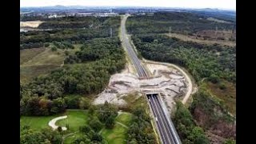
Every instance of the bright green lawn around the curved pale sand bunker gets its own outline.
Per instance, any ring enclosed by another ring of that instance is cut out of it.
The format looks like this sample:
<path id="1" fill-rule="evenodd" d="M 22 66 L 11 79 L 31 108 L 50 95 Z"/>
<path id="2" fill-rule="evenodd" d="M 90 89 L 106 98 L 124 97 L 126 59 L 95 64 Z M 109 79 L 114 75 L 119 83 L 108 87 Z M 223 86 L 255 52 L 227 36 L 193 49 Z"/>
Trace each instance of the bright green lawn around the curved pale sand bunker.
<path id="1" fill-rule="evenodd" d="M 85 125 L 88 118 L 86 110 L 66 110 L 63 114 L 56 114 L 52 116 L 22 116 L 20 118 L 20 126 L 30 126 L 33 130 L 42 130 L 50 127 L 48 126 L 48 122 L 50 122 L 51 119 L 62 115 L 67 115 L 67 118 L 59 120 L 56 122 L 56 125 L 65 126 L 66 123 L 68 123 L 70 126 L 70 132 L 78 130 L 79 126 Z"/>

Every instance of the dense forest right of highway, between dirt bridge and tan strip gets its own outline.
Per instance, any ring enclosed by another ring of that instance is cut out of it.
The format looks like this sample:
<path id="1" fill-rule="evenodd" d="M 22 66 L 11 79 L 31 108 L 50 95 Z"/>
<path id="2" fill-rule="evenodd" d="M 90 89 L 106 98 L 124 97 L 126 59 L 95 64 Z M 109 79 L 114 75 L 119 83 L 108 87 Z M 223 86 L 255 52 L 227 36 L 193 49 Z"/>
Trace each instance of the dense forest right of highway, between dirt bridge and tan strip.
<path id="1" fill-rule="evenodd" d="M 220 79 L 236 82 L 235 47 L 183 42 L 157 34 L 137 35 L 133 42 L 144 58 L 184 66 L 197 82 L 202 78 L 214 83 Z"/>

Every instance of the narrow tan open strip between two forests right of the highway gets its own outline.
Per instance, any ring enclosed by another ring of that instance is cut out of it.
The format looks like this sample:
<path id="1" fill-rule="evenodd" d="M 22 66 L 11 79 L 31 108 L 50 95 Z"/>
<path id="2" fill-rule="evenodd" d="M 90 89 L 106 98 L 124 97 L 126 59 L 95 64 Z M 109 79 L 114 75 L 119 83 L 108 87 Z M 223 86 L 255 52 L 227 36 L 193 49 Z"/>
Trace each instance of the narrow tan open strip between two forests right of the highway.
<path id="1" fill-rule="evenodd" d="M 214 43 L 218 43 L 222 46 L 235 46 L 236 43 L 232 41 L 226 40 L 204 40 L 203 38 L 198 38 L 197 36 L 185 35 L 185 34 L 166 34 L 167 36 L 174 37 L 181 39 L 182 41 L 191 41 L 191 42 L 198 42 L 201 44 L 213 45 Z"/>

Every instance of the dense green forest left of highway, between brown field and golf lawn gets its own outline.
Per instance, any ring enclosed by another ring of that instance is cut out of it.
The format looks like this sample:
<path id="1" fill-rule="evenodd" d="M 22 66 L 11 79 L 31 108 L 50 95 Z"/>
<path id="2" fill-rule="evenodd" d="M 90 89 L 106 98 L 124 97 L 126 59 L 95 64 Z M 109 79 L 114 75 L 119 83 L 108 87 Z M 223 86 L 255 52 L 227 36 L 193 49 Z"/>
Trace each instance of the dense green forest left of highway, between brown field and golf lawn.
<path id="1" fill-rule="evenodd" d="M 66 58 L 68 64 L 62 68 L 21 84 L 21 114 L 57 114 L 66 110 L 65 94 L 98 94 L 106 87 L 110 74 L 124 68 L 123 55 L 118 38 L 90 40 Z"/>

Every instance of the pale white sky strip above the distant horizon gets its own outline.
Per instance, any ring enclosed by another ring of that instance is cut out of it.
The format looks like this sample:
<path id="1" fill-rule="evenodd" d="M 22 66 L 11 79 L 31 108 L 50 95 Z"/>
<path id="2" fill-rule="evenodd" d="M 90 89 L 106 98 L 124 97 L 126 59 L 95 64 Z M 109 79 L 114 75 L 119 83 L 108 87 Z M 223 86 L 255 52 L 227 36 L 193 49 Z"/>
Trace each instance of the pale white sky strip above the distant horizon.
<path id="1" fill-rule="evenodd" d="M 20 0 L 28 6 L 160 6 L 236 10 L 236 0 Z"/>

